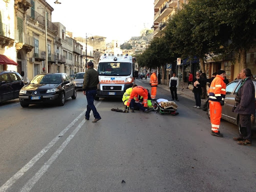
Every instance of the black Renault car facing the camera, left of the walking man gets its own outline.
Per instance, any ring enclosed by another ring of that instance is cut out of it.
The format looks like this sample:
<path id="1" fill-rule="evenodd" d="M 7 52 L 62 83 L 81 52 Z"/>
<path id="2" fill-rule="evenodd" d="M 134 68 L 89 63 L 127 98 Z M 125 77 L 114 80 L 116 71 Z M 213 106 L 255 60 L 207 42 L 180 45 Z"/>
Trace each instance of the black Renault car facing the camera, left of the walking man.
<path id="1" fill-rule="evenodd" d="M 60 106 L 65 99 L 76 98 L 74 83 L 69 74 L 47 73 L 38 74 L 19 91 L 19 102 L 22 107 L 29 104 L 53 102 Z"/>

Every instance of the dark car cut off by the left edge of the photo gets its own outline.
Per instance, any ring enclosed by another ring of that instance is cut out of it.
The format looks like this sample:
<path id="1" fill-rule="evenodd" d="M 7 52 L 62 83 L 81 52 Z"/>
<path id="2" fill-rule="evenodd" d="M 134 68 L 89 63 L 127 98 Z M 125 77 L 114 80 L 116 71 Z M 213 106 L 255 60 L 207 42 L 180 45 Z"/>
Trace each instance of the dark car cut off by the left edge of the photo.
<path id="1" fill-rule="evenodd" d="M 18 72 L 0 72 L 0 102 L 18 98 L 20 88 L 24 86 L 24 80 Z"/>

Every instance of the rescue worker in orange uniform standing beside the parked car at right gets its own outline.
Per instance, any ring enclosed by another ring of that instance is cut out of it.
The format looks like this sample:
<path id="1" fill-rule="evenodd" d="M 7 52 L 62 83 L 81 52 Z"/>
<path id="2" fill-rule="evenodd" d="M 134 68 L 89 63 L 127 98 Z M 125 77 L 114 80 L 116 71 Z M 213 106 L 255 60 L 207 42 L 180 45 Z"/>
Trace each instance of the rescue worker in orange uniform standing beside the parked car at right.
<path id="1" fill-rule="evenodd" d="M 219 124 L 221 118 L 222 106 L 226 94 L 226 84 L 224 83 L 225 71 L 219 69 L 217 75 L 212 80 L 209 87 L 209 108 L 210 108 L 210 122 L 211 122 L 211 135 L 223 137 L 219 132 Z"/>

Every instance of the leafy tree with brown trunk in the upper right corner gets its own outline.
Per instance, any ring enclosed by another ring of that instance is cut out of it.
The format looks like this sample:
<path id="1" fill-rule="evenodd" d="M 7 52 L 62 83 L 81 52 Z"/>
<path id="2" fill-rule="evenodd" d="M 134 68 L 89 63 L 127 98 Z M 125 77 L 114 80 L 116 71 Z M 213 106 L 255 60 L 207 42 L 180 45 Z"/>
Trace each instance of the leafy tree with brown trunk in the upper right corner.
<path id="1" fill-rule="evenodd" d="M 256 38 L 256 0 L 220 0 L 216 12 L 219 24 L 228 35 L 226 51 L 238 52 L 238 62 L 241 68 L 246 67 L 246 50 L 255 45 Z"/>

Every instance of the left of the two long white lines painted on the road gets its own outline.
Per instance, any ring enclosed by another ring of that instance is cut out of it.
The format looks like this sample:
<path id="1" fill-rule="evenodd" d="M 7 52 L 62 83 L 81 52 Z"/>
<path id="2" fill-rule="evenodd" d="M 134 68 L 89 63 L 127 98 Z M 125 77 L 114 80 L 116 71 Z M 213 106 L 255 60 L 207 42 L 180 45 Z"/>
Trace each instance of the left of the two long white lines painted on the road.
<path id="1" fill-rule="evenodd" d="M 101 101 L 99 101 L 95 107 L 97 107 Z M 28 163 L 26 163 L 20 170 L 18 170 L 12 177 L 10 177 L 1 187 L 0 192 L 5 192 L 12 184 L 14 184 L 17 179 L 19 179 L 29 168 L 31 168 L 34 163 L 39 160 L 62 136 L 74 123 L 84 115 L 86 109 L 83 110 L 69 125 L 67 125 L 56 137 L 54 137 L 40 152 L 38 152 Z M 82 121 L 83 122 L 83 121 Z M 85 122 L 85 121 L 84 121 Z M 84 123 L 83 122 L 83 123 Z M 78 125 L 79 126 L 79 125 Z M 74 131 L 73 131 L 74 132 Z M 69 135 L 70 136 L 70 135 Z M 68 139 L 68 138 L 67 138 Z M 62 144 L 63 145 L 63 144 Z"/>

